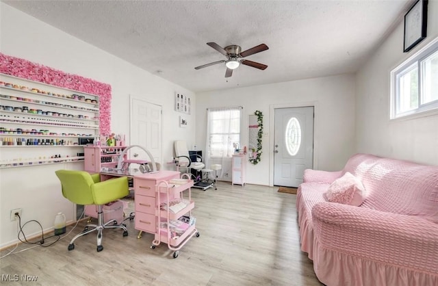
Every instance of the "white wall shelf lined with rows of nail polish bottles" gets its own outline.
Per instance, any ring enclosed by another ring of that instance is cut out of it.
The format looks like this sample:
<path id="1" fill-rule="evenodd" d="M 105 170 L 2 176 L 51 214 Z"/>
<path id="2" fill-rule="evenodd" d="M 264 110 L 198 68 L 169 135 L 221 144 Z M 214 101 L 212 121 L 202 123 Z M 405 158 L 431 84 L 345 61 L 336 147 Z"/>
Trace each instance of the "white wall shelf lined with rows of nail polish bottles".
<path id="1" fill-rule="evenodd" d="M 0 74 L 0 168 L 83 164 L 98 137 L 99 96 Z"/>

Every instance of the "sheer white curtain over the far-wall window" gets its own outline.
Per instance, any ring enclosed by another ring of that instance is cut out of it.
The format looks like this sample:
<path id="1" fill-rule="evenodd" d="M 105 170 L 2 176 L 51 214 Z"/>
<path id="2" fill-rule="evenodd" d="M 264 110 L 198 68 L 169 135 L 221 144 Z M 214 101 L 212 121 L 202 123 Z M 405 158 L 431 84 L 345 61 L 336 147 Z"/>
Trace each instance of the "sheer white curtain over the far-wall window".
<path id="1" fill-rule="evenodd" d="M 240 148 L 242 107 L 207 109 L 207 138 L 205 140 L 205 166 L 222 165 L 218 179 L 231 181 L 231 156 Z"/>

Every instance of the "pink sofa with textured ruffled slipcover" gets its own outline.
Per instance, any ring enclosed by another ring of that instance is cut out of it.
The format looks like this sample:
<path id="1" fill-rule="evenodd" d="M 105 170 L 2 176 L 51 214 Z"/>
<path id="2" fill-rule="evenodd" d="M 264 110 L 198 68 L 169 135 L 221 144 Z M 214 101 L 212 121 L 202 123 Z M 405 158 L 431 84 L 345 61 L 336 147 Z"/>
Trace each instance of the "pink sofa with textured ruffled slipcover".
<path id="1" fill-rule="evenodd" d="M 324 197 L 346 172 L 365 187 L 359 207 Z M 438 285 L 438 166 L 357 154 L 338 172 L 305 170 L 296 207 L 325 285 Z"/>

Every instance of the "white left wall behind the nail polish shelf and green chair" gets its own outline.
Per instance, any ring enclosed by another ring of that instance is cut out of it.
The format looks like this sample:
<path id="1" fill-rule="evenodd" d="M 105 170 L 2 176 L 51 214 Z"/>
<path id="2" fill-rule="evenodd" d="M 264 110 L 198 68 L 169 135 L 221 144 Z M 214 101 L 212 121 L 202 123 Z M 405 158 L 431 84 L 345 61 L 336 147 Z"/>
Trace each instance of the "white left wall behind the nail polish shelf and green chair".
<path id="1" fill-rule="evenodd" d="M 0 3 L 0 49 L 5 55 L 109 83 L 112 86 L 112 131 L 125 133 L 127 138 L 130 95 L 162 105 L 162 163 L 172 156 L 174 140 L 186 140 L 189 146 L 194 144 L 194 125 L 179 128 L 181 114 L 174 111 L 175 92 L 192 96 L 193 104 L 196 104 L 194 94 L 181 86 L 146 73 L 4 3 Z M 195 114 L 193 110 L 187 116 L 189 122 L 194 122 Z M 44 229 L 53 226 L 58 211 L 66 213 L 68 221 L 73 220 L 73 204 L 62 197 L 60 183 L 54 174 L 59 168 L 81 166 L 66 164 L 0 170 L 0 247 L 16 242 L 16 223 L 10 222 L 10 209 L 23 208 L 23 220 L 38 220 Z M 36 224 L 34 226 L 26 229 L 28 235 L 38 232 Z"/>

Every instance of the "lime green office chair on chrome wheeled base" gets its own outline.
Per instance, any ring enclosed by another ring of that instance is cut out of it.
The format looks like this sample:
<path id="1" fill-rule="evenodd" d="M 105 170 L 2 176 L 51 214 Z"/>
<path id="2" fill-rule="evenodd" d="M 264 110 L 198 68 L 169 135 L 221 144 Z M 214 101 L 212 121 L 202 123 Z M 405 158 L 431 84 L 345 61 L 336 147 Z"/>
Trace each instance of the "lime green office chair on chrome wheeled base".
<path id="1" fill-rule="evenodd" d="M 103 205 L 111 203 L 129 194 L 128 178 L 118 177 L 101 181 L 99 174 L 89 174 L 77 170 L 57 170 L 56 176 L 61 181 L 62 195 L 78 205 L 97 205 L 97 224 L 87 224 L 85 229 L 71 239 L 68 250 L 75 249 L 75 240 L 82 235 L 97 231 L 97 252 L 103 250 L 103 229 L 123 229 L 123 236 L 128 235 L 126 226 L 117 224 L 116 220 L 103 222 Z"/>

